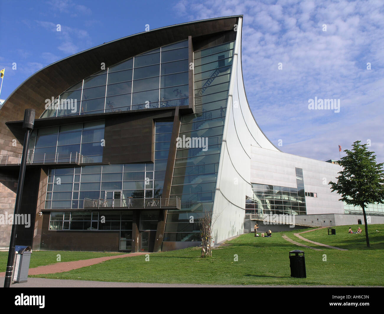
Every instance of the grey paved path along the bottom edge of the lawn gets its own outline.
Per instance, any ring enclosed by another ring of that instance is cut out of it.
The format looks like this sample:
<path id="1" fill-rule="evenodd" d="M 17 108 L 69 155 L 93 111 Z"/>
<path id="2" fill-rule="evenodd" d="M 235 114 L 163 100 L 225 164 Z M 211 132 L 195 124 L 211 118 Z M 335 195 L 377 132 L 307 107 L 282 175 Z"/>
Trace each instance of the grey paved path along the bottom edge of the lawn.
<path id="1" fill-rule="evenodd" d="M 0 283 L 4 282 L 4 277 L 0 277 Z M 0 287 L 3 287 L 1 284 Z M 316 288 L 316 287 L 343 287 L 358 288 L 368 286 L 326 286 L 326 285 L 233 285 L 233 284 L 192 284 L 192 283 L 116 283 L 106 281 L 86 281 L 86 280 L 67 280 L 67 279 L 47 279 L 47 278 L 28 278 L 26 283 L 11 284 L 11 288 Z"/>

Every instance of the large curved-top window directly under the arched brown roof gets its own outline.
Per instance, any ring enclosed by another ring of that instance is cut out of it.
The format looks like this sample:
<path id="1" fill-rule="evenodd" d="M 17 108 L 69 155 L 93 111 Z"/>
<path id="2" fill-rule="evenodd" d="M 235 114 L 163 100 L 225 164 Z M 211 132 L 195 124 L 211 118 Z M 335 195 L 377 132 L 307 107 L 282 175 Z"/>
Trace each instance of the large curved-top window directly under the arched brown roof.
<path id="1" fill-rule="evenodd" d="M 187 40 L 163 46 L 73 85 L 41 118 L 188 105 L 188 70 Z"/>

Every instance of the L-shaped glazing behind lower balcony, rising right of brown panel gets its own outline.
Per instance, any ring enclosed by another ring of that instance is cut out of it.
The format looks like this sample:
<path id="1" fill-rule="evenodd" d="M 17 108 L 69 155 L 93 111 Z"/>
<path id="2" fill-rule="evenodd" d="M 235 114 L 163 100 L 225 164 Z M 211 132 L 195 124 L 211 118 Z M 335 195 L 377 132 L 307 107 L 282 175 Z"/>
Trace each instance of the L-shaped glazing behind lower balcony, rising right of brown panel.
<path id="1" fill-rule="evenodd" d="M 50 168 L 45 209 L 81 209 L 84 198 L 112 199 L 115 192 L 123 200 L 162 196 L 172 126 L 155 124 L 154 164 Z"/>

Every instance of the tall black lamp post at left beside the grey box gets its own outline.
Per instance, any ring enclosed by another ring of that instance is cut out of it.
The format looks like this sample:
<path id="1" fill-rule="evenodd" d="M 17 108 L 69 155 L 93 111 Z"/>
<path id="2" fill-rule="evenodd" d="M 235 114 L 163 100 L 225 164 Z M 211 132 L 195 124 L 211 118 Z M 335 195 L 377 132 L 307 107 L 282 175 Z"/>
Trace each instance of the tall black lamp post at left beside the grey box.
<path id="1" fill-rule="evenodd" d="M 27 153 L 28 153 L 28 147 L 29 147 L 29 138 L 33 130 L 34 123 L 35 123 L 35 110 L 25 109 L 24 122 L 23 122 L 23 130 L 25 130 L 23 156 L 20 164 L 19 181 L 17 184 L 17 193 L 16 193 L 15 213 L 13 217 L 17 217 L 16 215 L 18 215 L 20 212 L 20 205 L 22 202 L 24 177 L 25 177 L 25 165 L 26 165 L 26 159 L 27 159 Z M 17 225 L 15 224 L 15 220 L 13 219 L 11 240 L 9 243 L 7 271 L 5 273 L 5 280 L 4 280 L 4 288 L 9 288 L 11 284 L 13 262 L 15 260 L 16 230 L 17 230 Z"/>

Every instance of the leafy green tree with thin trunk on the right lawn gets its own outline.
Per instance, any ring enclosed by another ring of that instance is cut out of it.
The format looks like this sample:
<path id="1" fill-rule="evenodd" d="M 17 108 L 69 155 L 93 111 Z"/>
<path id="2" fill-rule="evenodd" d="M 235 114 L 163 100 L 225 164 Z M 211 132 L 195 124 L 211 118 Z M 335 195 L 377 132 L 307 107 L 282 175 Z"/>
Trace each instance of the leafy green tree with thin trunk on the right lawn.
<path id="1" fill-rule="evenodd" d="M 360 206 L 364 215 L 365 237 L 369 247 L 366 204 L 384 203 L 384 173 L 383 164 L 376 164 L 376 155 L 367 150 L 367 144 L 360 141 L 353 143 L 353 149 L 344 150 L 346 156 L 339 160 L 344 169 L 339 172 L 337 183 L 330 181 L 332 192 L 341 194 L 339 201 L 346 204 Z"/>

